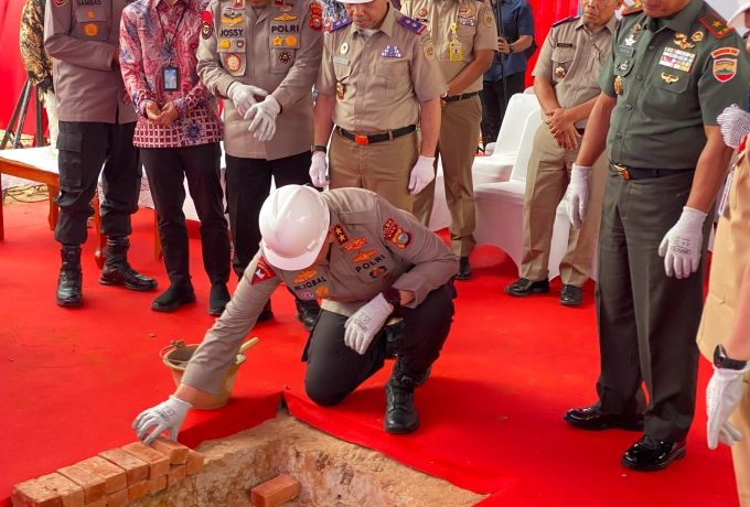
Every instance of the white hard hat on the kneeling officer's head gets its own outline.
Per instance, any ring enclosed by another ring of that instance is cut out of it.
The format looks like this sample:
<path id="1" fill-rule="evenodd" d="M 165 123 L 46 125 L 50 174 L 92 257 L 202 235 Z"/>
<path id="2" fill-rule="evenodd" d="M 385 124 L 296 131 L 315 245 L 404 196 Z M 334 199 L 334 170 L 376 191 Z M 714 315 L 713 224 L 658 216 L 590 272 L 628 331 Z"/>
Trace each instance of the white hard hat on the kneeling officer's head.
<path id="1" fill-rule="evenodd" d="M 331 214 L 318 191 L 287 185 L 268 196 L 258 222 L 268 261 L 297 271 L 312 265 L 318 257 L 325 242 Z"/>

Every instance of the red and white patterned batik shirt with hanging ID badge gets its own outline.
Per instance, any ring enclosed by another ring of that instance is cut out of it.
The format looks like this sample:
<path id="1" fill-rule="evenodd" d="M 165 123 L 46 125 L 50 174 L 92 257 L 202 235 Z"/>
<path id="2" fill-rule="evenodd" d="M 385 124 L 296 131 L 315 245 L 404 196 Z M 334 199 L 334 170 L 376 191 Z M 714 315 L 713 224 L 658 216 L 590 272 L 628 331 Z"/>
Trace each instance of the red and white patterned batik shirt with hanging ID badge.
<path id="1" fill-rule="evenodd" d="M 222 140 L 216 98 L 199 79 L 195 66 L 201 15 L 207 0 L 137 0 L 122 11 L 120 66 L 138 112 L 133 144 L 179 148 Z M 176 91 L 164 90 L 165 67 L 179 69 Z M 180 116 L 170 127 L 148 119 L 146 105 L 173 103 Z"/>

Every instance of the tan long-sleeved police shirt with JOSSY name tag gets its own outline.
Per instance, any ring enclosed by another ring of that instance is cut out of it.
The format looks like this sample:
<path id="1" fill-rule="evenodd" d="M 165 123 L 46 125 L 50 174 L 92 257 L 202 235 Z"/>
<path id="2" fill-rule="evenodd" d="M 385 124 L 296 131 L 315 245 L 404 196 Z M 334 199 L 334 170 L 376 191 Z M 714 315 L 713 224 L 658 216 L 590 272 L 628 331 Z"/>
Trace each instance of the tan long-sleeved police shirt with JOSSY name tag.
<path id="1" fill-rule="evenodd" d="M 224 100 L 224 149 L 247 159 L 276 160 L 312 145 L 312 85 L 323 51 L 322 7 L 276 2 L 258 14 L 243 0 L 213 0 L 203 13 L 197 73 L 217 97 L 234 82 L 265 89 L 281 105 L 276 134 L 260 142 L 232 100 Z"/>

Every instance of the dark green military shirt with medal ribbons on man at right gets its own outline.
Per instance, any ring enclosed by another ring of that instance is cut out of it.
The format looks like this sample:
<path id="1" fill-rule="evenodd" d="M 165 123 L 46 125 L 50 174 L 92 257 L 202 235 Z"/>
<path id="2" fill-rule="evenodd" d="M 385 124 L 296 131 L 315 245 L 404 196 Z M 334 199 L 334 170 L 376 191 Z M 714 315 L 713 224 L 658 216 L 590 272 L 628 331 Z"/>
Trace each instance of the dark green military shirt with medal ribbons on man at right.
<path id="1" fill-rule="evenodd" d="M 706 145 L 704 126 L 731 104 L 748 103 L 744 41 L 704 2 L 672 19 L 623 12 L 599 76 L 617 97 L 607 149 L 612 162 L 642 169 L 693 169 Z M 618 93 L 619 91 L 619 93 Z"/>

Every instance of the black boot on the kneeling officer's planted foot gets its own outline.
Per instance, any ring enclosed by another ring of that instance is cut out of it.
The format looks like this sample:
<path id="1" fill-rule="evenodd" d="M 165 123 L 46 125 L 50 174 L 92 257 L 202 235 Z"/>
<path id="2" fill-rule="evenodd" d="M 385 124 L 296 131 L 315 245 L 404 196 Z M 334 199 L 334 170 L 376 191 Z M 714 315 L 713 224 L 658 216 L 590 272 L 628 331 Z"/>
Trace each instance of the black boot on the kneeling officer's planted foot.
<path id="1" fill-rule="evenodd" d="M 394 373 L 385 385 L 386 409 L 383 427 L 387 433 L 407 434 L 419 428 L 419 418 L 414 408 L 414 389 L 427 380 L 428 371 L 416 373 L 401 365 L 400 358 L 394 365 Z"/>

